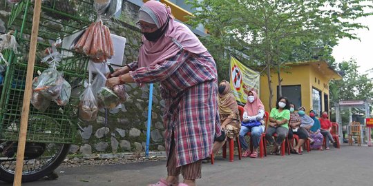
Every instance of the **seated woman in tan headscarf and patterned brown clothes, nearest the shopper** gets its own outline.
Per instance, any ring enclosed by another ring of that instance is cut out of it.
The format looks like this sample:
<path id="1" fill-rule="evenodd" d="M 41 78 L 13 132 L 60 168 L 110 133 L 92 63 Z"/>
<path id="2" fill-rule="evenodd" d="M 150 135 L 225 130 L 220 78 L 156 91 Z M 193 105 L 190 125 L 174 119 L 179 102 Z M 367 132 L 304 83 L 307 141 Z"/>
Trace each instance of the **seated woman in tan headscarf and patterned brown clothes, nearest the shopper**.
<path id="1" fill-rule="evenodd" d="M 219 116 L 220 123 L 222 123 L 222 133 L 219 138 L 215 138 L 215 143 L 213 144 L 213 153 L 216 154 L 219 149 L 224 145 L 226 140 L 225 136 L 228 138 L 236 138 L 240 132 L 240 115 L 238 114 L 238 105 L 236 99 L 231 93 L 231 87 L 229 87 L 229 82 L 223 80 L 220 82 L 218 87 L 218 106 L 219 106 Z M 224 138 L 223 138 L 224 136 Z"/>

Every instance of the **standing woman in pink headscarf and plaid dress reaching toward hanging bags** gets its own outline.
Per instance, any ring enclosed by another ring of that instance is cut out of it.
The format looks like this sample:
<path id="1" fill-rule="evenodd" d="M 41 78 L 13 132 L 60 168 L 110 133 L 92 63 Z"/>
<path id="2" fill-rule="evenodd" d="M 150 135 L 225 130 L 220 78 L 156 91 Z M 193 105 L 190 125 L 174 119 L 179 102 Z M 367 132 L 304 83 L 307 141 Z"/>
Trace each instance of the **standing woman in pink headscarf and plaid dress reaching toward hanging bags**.
<path id="1" fill-rule="evenodd" d="M 179 185 L 195 185 L 202 159 L 212 152 L 214 135 L 221 135 L 216 63 L 165 4 L 147 1 L 139 18 L 144 36 L 137 62 L 117 69 L 106 86 L 160 82 L 168 176 L 154 185 L 178 185 L 180 173 L 184 183 Z"/>

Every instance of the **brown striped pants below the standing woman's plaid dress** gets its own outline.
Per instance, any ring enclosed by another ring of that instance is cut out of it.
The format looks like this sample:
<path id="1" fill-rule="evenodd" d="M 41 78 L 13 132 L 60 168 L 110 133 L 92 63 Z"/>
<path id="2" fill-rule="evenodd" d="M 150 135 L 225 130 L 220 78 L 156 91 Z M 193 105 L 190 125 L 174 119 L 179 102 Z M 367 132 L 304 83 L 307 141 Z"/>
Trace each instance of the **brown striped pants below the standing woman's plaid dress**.
<path id="1" fill-rule="evenodd" d="M 167 162 L 167 175 L 179 176 L 180 172 L 184 180 L 195 180 L 201 178 L 202 161 L 196 161 L 187 165 L 176 167 L 175 140 L 172 135 L 169 160 Z"/>

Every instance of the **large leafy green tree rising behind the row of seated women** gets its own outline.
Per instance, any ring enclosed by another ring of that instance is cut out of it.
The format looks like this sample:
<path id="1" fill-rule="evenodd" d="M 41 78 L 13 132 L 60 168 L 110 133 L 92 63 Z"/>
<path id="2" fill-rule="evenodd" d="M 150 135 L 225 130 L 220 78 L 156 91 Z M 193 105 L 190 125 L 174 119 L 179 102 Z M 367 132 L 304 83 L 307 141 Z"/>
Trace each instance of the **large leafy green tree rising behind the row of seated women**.
<path id="1" fill-rule="evenodd" d="M 293 58 L 312 59 L 315 52 L 300 52 L 304 49 L 321 48 L 316 56 L 330 53 L 338 39 L 357 39 L 352 32 L 366 28 L 360 23 L 346 21 L 368 16 L 363 0 L 192 0 L 194 17 L 191 25 L 204 25 L 210 36 L 205 43 L 224 66 L 224 55 L 239 51 L 249 56 L 247 65 L 265 66 L 269 86 L 269 107 L 272 107 L 271 69 L 280 72 L 284 64 Z M 327 52 L 325 52 L 327 50 Z M 321 54 L 320 54 L 321 53 Z M 327 59 L 330 59 L 330 55 Z"/>

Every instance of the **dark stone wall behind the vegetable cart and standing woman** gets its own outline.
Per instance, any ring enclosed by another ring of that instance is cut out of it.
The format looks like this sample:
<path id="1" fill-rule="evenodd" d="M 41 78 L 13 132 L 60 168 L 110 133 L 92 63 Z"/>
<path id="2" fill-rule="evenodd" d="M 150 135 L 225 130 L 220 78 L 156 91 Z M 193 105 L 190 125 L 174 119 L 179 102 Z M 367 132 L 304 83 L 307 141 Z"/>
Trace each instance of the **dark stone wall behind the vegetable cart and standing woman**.
<path id="1" fill-rule="evenodd" d="M 5 31 L 10 9 L 0 1 L 0 31 Z M 117 20 L 104 21 L 113 34 L 126 37 L 126 49 L 123 64 L 137 59 L 141 44 L 140 30 L 136 27 L 140 7 L 123 2 L 122 15 Z M 159 96 L 158 85 L 153 91 L 153 112 L 151 127 L 151 150 L 164 151 L 164 126 L 162 124 L 162 110 L 164 101 Z M 108 110 L 105 117 L 104 110 L 99 112 L 96 121 L 78 123 L 82 130 L 78 130 L 75 145 L 70 152 L 73 154 L 92 154 L 108 152 L 140 152 L 145 149 L 146 122 L 148 116 L 149 85 L 139 87 L 136 83 L 126 85 L 128 100 L 119 108 Z M 107 118 L 107 122 L 105 122 Z"/>

